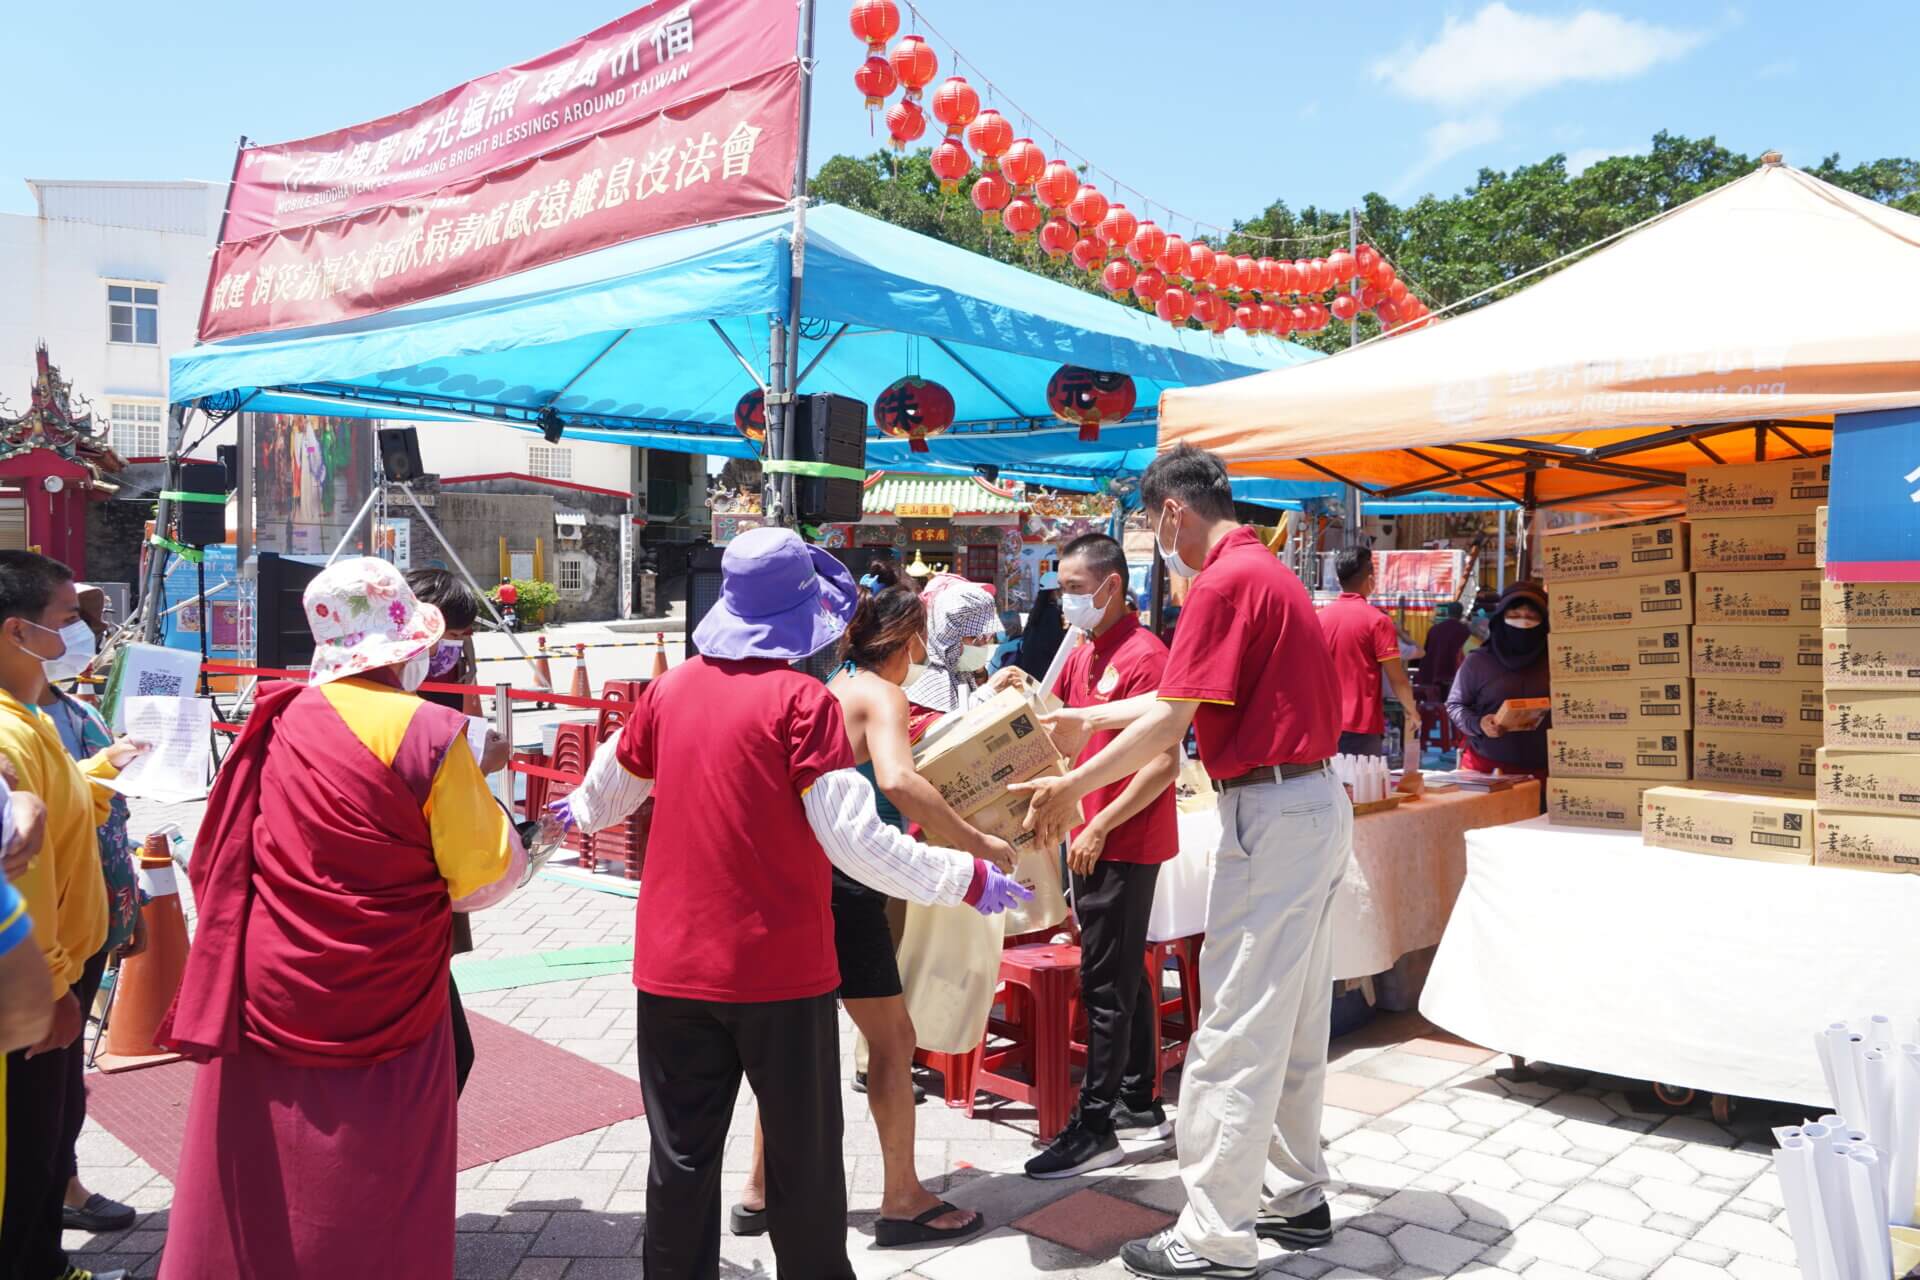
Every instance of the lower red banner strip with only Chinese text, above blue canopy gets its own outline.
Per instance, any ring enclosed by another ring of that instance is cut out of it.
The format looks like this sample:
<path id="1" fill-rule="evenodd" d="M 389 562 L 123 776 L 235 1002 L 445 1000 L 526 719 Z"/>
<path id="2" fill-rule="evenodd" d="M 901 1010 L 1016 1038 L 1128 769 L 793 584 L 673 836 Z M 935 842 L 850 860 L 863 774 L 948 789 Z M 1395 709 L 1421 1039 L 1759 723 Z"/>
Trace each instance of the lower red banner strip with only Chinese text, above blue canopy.
<path id="1" fill-rule="evenodd" d="M 200 338 L 326 324 L 578 253 L 781 207 L 799 155 L 801 71 L 353 217 L 219 246 Z"/>

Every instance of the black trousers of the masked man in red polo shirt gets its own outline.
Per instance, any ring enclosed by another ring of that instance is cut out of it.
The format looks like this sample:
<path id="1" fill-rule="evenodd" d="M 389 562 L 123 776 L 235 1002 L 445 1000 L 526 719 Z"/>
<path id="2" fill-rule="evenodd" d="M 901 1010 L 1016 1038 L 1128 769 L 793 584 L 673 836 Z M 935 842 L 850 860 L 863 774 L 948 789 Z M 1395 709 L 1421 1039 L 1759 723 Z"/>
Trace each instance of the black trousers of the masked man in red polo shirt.
<path id="1" fill-rule="evenodd" d="M 1154 912 L 1158 864 L 1096 862 L 1073 877 L 1081 925 L 1081 1004 L 1087 1007 L 1087 1075 L 1079 1117 L 1112 1132 L 1114 1103 L 1154 1100 L 1154 1000 L 1146 983 L 1146 919 Z"/>

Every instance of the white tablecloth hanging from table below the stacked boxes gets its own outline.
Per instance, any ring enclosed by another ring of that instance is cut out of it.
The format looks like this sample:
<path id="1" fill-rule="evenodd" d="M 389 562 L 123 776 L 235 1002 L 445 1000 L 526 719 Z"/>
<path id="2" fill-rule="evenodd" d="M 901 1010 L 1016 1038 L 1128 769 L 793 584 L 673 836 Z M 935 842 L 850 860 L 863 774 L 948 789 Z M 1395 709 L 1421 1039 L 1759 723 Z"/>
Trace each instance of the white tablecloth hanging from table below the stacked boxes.
<path id="1" fill-rule="evenodd" d="M 1832 1105 L 1814 1031 L 1920 1013 L 1920 875 L 1682 854 L 1546 818 L 1469 831 L 1421 1013 L 1526 1059 Z"/>

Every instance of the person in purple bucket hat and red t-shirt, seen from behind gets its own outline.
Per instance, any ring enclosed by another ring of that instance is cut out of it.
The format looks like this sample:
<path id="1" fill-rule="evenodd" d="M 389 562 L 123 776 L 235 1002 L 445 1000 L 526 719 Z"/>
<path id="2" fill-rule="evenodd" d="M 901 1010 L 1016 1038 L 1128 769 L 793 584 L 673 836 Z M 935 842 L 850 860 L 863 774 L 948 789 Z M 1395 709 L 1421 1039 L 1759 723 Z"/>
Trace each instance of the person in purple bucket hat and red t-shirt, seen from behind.
<path id="1" fill-rule="evenodd" d="M 751 530 L 722 562 L 699 649 L 647 685 L 586 781 L 551 806 L 609 827 L 653 794 L 634 984 L 653 1155 L 645 1270 L 720 1274 L 720 1157 L 741 1075 L 766 1132 L 766 1215 L 781 1276 L 852 1280 L 833 990 L 835 865 L 933 906 L 1031 894 L 966 854 L 879 821 L 839 700 L 791 662 L 839 641 L 856 589 L 791 530 Z M 924 1221 L 952 1213 L 941 1203 Z"/>

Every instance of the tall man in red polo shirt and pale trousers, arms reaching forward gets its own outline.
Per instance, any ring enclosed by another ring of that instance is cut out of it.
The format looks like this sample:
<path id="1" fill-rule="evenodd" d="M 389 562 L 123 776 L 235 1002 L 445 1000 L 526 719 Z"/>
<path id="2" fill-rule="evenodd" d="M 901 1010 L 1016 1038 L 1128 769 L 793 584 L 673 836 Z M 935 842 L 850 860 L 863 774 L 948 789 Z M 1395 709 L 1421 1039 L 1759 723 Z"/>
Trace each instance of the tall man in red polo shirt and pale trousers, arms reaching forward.
<path id="1" fill-rule="evenodd" d="M 1158 697 L 1056 716 L 1125 725 L 1066 777 L 1021 785 L 1029 823 L 1062 829 L 1077 800 L 1137 771 L 1192 727 L 1221 789 L 1221 844 L 1200 952 L 1200 1031 L 1175 1140 L 1187 1209 L 1127 1244 L 1139 1276 L 1252 1276 L 1260 1240 L 1332 1240 L 1319 1146 L 1332 1006 L 1327 921 L 1354 848 L 1354 806 L 1327 758 L 1340 739 L 1332 660 L 1300 580 L 1235 522 L 1219 459 L 1179 445 L 1140 495 L 1167 572 L 1192 580 Z"/>

